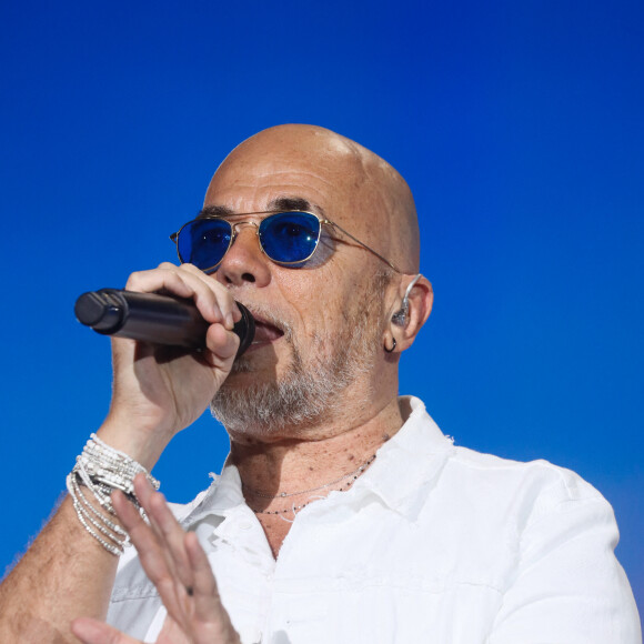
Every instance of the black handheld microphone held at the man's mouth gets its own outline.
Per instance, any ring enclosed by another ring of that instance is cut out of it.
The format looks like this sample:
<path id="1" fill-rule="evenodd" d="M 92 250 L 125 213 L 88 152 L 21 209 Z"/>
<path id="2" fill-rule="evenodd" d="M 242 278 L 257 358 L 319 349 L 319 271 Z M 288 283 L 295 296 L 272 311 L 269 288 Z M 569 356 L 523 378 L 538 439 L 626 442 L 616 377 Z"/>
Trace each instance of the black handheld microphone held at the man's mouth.
<path id="1" fill-rule="evenodd" d="M 242 314 L 233 332 L 240 339 L 239 358 L 252 343 L 255 320 L 237 302 Z M 78 321 L 102 335 L 130 338 L 153 344 L 205 348 L 210 326 L 191 300 L 180 300 L 157 293 L 135 293 L 118 289 L 101 289 L 83 293 L 74 305 Z"/>

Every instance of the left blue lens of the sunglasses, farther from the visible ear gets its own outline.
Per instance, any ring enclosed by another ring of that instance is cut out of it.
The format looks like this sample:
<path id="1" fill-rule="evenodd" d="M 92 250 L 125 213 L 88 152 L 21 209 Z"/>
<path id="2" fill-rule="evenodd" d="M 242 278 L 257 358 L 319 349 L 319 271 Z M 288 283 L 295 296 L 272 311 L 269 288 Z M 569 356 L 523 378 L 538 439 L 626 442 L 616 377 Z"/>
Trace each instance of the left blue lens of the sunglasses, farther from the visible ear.
<path id="1" fill-rule="evenodd" d="M 221 262 L 230 245 L 231 228 L 222 219 L 197 219 L 184 225 L 177 238 L 179 258 L 202 271 Z"/>

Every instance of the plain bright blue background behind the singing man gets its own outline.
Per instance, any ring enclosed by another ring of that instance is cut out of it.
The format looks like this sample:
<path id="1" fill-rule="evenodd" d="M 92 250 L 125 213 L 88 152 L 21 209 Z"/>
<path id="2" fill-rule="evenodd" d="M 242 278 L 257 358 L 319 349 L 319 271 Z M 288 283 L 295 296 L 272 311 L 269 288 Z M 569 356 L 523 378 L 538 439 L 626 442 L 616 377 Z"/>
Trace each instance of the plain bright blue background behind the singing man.
<path id="1" fill-rule="evenodd" d="M 456 443 L 545 457 L 614 505 L 644 598 L 644 6 L 325 1 L 0 4 L 0 571 L 107 412 L 83 291 L 173 259 L 224 154 L 321 124 L 412 187 L 434 312 L 403 356 Z M 219 471 L 204 416 L 155 474 Z"/>

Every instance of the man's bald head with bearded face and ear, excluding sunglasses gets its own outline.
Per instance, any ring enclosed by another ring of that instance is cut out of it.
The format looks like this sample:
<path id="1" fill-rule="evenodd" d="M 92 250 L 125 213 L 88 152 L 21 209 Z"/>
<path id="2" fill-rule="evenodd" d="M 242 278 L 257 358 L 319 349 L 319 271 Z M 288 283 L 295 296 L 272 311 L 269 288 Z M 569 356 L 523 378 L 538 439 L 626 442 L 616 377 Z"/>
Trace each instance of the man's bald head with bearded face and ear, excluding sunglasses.
<path id="1" fill-rule="evenodd" d="M 256 220 L 280 210 L 334 224 L 301 270 L 271 261 L 258 243 Z M 404 326 L 392 319 L 420 259 L 415 205 L 402 177 L 335 132 L 278 125 L 224 159 L 203 213 L 245 224 L 214 278 L 259 318 L 260 330 L 269 323 L 281 331 L 270 342 L 260 335 L 213 400 L 231 437 L 300 435 L 331 417 L 345 426 L 345 416 L 382 401 L 398 410 L 400 352 L 431 309 L 431 286 L 421 280 L 411 293 L 414 314 Z"/>

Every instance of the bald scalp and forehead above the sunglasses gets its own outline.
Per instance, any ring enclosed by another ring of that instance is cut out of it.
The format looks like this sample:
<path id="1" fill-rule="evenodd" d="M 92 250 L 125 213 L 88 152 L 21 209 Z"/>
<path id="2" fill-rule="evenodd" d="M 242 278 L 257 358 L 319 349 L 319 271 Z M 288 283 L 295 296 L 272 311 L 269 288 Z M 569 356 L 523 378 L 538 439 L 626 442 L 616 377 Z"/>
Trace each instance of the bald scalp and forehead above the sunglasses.
<path id="1" fill-rule="evenodd" d="M 401 272 L 417 272 L 417 218 L 404 179 L 366 148 L 324 128 L 278 125 L 246 139 L 215 172 L 205 203 L 269 184 L 275 197 L 294 194 L 296 183 L 320 194 L 315 202 L 331 199 L 326 215 Z"/>

